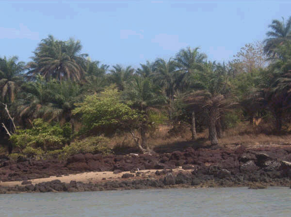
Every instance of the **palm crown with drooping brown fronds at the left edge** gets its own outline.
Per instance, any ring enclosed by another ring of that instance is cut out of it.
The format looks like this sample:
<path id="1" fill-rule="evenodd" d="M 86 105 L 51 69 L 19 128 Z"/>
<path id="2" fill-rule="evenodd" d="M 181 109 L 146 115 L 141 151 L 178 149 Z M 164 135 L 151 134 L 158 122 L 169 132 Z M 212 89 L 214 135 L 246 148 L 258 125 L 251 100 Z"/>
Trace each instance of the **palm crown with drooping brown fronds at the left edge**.
<path id="1" fill-rule="evenodd" d="M 11 103 L 15 100 L 17 87 L 22 81 L 21 72 L 24 62 L 17 62 L 16 56 L 0 58 L 0 90 L 2 101 Z"/>

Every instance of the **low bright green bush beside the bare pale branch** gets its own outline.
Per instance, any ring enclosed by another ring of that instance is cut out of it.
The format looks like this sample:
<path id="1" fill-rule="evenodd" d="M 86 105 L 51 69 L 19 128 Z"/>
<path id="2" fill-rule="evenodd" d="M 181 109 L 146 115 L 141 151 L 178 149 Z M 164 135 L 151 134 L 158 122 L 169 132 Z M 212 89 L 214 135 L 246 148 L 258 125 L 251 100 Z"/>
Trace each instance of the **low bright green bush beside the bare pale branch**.
<path id="1" fill-rule="evenodd" d="M 63 130 L 59 124 L 51 125 L 42 119 L 35 119 L 32 122 L 32 129 L 17 130 L 10 140 L 28 157 L 39 156 L 44 150 L 62 148 L 69 140 L 67 128 L 65 126 Z"/>

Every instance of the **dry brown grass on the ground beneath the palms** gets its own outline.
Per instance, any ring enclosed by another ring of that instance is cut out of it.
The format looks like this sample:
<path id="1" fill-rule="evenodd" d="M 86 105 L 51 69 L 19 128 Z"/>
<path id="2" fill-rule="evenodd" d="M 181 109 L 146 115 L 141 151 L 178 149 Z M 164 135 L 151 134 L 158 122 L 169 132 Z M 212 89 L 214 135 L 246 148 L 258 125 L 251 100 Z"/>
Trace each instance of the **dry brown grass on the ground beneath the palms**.
<path id="1" fill-rule="evenodd" d="M 193 141 L 191 140 L 190 129 L 185 129 L 176 136 L 172 136 L 168 133 L 170 129 L 171 127 L 168 125 L 160 125 L 154 133 L 149 135 L 149 147 L 158 153 L 163 153 L 183 150 L 186 147 L 198 148 L 210 146 L 210 141 L 208 141 L 208 130 L 198 133 L 197 139 Z M 291 134 L 274 135 L 270 133 L 270 129 L 270 126 L 264 123 L 254 129 L 253 125 L 250 125 L 248 122 L 242 122 L 236 127 L 226 130 L 223 137 L 219 139 L 219 145 L 229 148 L 236 147 L 237 145 L 245 145 L 246 147 L 291 145 Z M 138 152 L 129 134 L 115 136 L 111 140 L 110 146 L 119 154 Z"/>

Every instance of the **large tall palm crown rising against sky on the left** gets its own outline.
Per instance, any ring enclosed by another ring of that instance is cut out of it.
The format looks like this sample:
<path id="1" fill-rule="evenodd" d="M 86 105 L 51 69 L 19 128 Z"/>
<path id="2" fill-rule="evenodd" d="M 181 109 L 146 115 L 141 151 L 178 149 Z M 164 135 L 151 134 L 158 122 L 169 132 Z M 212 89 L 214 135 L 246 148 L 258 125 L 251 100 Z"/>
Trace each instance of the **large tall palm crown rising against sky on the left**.
<path id="1" fill-rule="evenodd" d="M 63 42 L 49 35 L 38 45 L 32 57 L 33 61 L 28 63 L 28 75 L 40 74 L 47 80 L 55 78 L 80 81 L 85 73 L 84 57 L 87 56 L 80 54 L 81 48 L 80 41 L 70 39 Z"/>

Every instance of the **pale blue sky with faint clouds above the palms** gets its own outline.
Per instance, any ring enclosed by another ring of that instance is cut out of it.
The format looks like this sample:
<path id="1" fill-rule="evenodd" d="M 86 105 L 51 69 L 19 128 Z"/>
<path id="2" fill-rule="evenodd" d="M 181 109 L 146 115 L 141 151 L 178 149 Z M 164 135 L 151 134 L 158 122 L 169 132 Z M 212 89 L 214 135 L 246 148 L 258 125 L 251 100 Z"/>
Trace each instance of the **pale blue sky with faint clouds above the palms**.
<path id="1" fill-rule="evenodd" d="M 92 60 L 137 68 L 188 46 L 227 62 L 286 20 L 291 0 L 0 0 L 0 9 L 0 57 L 31 61 L 51 34 L 80 40 Z"/>

